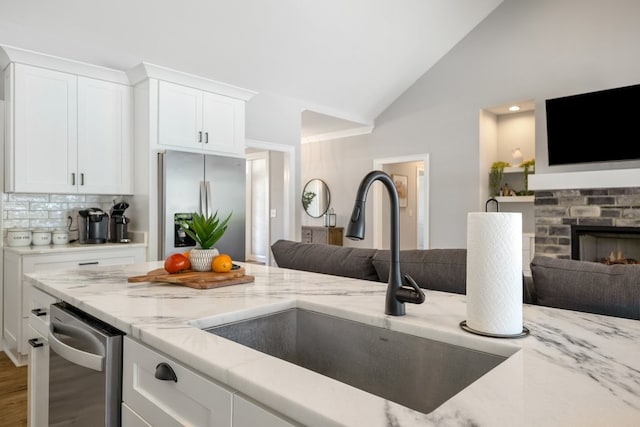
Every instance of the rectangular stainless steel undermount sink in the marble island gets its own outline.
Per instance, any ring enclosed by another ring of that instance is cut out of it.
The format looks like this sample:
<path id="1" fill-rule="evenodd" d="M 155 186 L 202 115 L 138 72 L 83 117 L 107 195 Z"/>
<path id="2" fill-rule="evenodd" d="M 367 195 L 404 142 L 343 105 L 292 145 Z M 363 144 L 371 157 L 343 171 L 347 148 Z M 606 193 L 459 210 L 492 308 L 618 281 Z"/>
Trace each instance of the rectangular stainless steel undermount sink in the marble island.
<path id="1" fill-rule="evenodd" d="M 300 308 L 204 330 L 423 413 L 507 358 Z"/>

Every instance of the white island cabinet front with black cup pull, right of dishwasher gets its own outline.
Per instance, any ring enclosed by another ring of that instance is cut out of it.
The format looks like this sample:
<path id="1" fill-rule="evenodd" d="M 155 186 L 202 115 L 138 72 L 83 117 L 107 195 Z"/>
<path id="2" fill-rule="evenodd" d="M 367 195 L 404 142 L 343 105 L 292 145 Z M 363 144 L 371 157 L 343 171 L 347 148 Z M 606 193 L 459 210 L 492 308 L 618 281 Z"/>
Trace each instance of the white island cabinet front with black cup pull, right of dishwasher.
<path id="1" fill-rule="evenodd" d="M 129 337 L 122 372 L 123 427 L 296 425 Z"/>

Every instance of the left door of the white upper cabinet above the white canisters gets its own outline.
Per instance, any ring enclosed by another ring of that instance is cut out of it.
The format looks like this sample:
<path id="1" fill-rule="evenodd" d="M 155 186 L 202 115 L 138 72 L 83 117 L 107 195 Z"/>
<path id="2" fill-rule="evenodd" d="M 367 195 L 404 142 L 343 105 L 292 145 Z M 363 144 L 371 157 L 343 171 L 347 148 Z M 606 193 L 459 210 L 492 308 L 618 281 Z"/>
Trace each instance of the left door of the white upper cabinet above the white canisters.
<path id="1" fill-rule="evenodd" d="M 76 76 L 23 64 L 15 64 L 14 71 L 14 138 L 8 141 L 14 170 L 8 191 L 75 192 Z"/>

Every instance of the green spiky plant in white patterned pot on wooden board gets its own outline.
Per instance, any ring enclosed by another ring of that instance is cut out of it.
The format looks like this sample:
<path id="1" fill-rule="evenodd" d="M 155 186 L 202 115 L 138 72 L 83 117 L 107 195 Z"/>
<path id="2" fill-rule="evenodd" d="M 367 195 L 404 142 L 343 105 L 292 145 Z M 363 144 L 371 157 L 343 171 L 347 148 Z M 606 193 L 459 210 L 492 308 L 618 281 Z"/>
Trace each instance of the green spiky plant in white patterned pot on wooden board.
<path id="1" fill-rule="evenodd" d="M 218 211 L 213 215 L 193 213 L 190 220 L 180 222 L 185 233 L 196 241 L 199 247 L 192 249 L 189 254 L 191 268 L 196 271 L 210 271 L 211 261 L 219 252 L 213 245 L 227 231 L 227 224 L 231 219 L 229 214 L 224 220 L 218 218 Z"/>

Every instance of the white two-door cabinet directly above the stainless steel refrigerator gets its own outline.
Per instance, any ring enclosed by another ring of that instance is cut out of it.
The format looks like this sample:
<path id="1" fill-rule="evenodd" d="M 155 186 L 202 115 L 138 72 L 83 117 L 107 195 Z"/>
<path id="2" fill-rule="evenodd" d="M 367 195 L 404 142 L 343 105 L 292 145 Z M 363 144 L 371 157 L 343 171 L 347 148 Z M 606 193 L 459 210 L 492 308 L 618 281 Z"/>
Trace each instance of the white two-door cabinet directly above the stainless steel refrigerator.
<path id="1" fill-rule="evenodd" d="M 239 99 L 160 81 L 158 144 L 243 156 L 244 108 L 244 101 Z"/>

